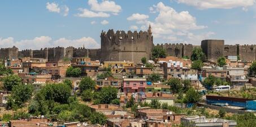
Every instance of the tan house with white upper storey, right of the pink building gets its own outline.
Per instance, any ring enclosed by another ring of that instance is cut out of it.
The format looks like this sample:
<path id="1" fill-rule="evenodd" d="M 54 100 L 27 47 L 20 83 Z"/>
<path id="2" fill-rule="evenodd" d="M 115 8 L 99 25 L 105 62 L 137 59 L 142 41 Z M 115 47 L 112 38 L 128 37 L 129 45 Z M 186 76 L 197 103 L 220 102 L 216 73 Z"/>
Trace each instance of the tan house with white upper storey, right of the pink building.
<path id="1" fill-rule="evenodd" d="M 164 78 L 181 78 L 183 74 L 183 62 L 180 61 L 168 61 L 163 62 Z"/>

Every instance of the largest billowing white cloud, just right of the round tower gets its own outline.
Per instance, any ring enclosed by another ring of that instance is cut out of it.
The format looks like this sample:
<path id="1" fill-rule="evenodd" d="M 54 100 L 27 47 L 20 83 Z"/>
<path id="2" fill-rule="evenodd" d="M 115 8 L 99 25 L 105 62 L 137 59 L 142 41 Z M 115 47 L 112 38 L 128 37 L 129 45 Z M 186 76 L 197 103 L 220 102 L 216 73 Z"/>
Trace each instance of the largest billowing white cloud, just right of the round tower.
<path id="1" fill-rule="evenodd" d="M 175 43 L 179 41 L 199 44 L 201 42 L 199 39 L 210 37 L 213 34 L 211 32 L 192 33 L 195 30 L 205 29 L 207 26 L 198 25 L 196 17 L 190 15 L 188 11 L 177 12 L 172 7 L 166 6 L 162 2 L 153 5 L 149 11 L 154 11 L 157 15 L 154 21 L 149 21 L 146 15 L 142 16 L 143 14 L 134 14 L 128 17 L 127 20 L 134 20 L 141 30 L 147 30 L 149 24 L 151 24 L 153 36 L 156 39 Z M 193 39 L 192 36 L 195 39 Z"/>

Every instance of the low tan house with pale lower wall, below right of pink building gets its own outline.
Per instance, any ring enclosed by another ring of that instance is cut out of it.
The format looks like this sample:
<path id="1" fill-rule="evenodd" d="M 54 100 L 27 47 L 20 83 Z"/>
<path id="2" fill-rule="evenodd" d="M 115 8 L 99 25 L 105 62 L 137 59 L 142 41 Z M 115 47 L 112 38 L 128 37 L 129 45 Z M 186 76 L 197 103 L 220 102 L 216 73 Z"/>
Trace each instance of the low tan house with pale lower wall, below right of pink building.
<path id="1" fill-rule="evenodd" d="M 168 105 L 173 106 L 175 97 L 172 96 L 170 93 L 164 92 L 154 92 L 154 93 L 145 93 L 147 103 L 151 103 L 153 99 L 157 99 L 160 103 L 168 103 Z"/>

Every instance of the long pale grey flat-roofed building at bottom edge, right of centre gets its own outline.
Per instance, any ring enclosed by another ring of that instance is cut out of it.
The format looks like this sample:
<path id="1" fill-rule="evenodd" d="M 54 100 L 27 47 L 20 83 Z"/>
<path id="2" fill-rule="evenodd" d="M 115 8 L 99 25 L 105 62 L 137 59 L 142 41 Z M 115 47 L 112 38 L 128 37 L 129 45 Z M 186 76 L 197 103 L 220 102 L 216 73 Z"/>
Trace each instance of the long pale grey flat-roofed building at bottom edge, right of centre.
<path id="1" fill-rule="evenodd" d="M 218 118 L 207 119 L 205 116 L 185 116 L 181 117 L 181 123 L 184 126 L 198 126 L 198 127 L 233 127 L 237 125 L 236 121 L 224 120 Z"/>

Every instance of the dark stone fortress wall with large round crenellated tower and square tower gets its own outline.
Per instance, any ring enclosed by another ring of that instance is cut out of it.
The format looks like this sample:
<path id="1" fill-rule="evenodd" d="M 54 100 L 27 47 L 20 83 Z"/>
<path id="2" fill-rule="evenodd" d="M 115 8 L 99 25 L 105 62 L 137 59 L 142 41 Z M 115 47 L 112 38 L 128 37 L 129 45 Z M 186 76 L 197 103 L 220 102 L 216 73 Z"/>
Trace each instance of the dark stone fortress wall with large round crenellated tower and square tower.
<path id="1" fill-rule="evenodd" d="M 154 47 L 151 27 L 147 31 L 102 31 L 101 48 L 87 49 L 84 47 L 54 47 L 40 50 L 26 49 L 19 51 L 15 46 L 1 48 L 0 59 L 21 57 L 47 58 L 49 61 L 60 61 L 63 58 L 90 57 L 92 60 L 103 61 L 133 61 L 140 63 L 142 57 L 151 58 Z M 166 49 L 168 56 L 190 57 L 194 47 L 192 44 L 157 44 Z M 225 45 L 224 40 L 202 40 L 202 51 L 207 59 L 216 60 L 220 56 L 240 56 L 241 60 L 256 60 L 256 45 Z"/>

